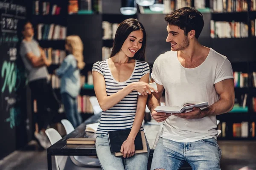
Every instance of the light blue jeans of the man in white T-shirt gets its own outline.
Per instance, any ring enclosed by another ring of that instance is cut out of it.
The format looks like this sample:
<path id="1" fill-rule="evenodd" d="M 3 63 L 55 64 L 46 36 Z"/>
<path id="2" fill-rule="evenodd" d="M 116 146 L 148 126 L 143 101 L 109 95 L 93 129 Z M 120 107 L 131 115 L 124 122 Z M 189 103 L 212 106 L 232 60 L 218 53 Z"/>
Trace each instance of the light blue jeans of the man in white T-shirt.
<path id="1" fill-rule="evenodd" d="M 215 138 L 196 142 L 174 142 L 159 138 L 151 170 L 178 170 L 185 162 L 192 170 L 220 170 L 221 149 Z"/>

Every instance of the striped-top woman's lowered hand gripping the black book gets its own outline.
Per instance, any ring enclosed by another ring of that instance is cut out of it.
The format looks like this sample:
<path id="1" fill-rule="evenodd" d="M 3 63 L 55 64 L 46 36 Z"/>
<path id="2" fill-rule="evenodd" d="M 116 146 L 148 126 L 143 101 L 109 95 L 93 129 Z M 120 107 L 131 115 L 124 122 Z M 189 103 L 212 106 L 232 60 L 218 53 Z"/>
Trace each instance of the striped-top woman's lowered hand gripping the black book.
<path id="1" fill-rule="evenodd" d="M 134 140 L 126 139 L 121 146 L 120 152 L 123 154 L 124 158 L 129 158 L 131 156 L 134 156 L 134 153 L 135 153 Z"/>

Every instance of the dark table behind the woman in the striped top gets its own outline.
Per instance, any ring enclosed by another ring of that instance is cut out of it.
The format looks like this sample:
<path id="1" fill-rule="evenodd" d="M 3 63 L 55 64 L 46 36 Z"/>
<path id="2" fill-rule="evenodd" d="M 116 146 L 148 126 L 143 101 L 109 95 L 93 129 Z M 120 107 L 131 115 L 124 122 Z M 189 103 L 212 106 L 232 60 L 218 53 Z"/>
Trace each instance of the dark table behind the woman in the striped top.
<path id="1" fill-rule="evenodd" d="M 95 138 L 95 133 L 85 132 L 87 124 L 99 122 L 101 114 L 93 115 L 73 132 L 64 136 L 61 140 L 53 144 L 47 149 L 47 166 L 48 170 L 52 170 L 52 156 L 96 156 L 95 144 L 67 144 L 66 140 L 76 136 L 84 136 L 88 138 Z M 145 135 L 150 147 L 150 156 L 153 156 L 155 144 L 158 139 L 158 131 L 160 124 L 157 122 L 143 124 Z"/>

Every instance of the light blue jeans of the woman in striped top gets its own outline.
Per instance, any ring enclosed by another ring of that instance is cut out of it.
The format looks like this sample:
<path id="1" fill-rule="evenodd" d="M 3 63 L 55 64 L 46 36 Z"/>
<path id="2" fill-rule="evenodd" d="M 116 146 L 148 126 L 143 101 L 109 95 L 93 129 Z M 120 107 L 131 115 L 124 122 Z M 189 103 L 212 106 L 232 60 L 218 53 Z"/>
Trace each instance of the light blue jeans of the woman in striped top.
<path id="1" fill-rule="evenodd" d="M 110 152 L 108 135 L 96 135 L 96 152 L 103 170 L 147 170 L 148 142 L 147 147 L 147 153 L 137 153 L 129 158 L 116 157 L 114 153 Z"/>

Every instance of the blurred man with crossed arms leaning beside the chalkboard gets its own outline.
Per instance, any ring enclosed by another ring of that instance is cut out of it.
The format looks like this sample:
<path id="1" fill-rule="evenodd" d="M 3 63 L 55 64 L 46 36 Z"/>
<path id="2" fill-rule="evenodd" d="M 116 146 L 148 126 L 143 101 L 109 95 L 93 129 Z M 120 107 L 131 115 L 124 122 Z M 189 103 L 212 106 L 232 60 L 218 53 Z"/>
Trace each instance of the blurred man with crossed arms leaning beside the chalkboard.
<path id="1" fill-rule="evenodd" d="M 47 84 L 47 66 L 51 64 L 44 54 L 43 49 L 33 39 L 34 29 L 29 21 L 20 23 L 23 40 L 20 45 L 20 56 L 23 60 L 31 88 L 32 96 L 37 100 L 36 122 L 38 130 L 35 130 L 35 137 L 45 149 L 50 146 L 45 129 L 52 120 L 52 108 L 49 104 L 50 86 Z"/>

